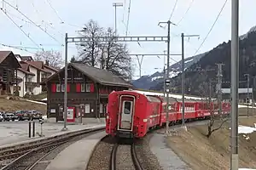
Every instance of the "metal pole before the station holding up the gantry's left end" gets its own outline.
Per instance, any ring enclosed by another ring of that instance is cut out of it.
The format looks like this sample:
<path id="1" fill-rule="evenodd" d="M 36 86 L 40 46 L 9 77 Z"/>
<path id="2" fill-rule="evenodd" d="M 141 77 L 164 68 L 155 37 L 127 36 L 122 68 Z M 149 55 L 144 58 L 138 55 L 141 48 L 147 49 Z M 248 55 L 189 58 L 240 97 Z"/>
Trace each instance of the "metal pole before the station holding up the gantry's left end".
<path id="1" fill-rule="evenodd" d="M 64 90 L 64 127 L 62 131 L 67 130 L 67 33 L 65 37 L 65 90 Z"/>

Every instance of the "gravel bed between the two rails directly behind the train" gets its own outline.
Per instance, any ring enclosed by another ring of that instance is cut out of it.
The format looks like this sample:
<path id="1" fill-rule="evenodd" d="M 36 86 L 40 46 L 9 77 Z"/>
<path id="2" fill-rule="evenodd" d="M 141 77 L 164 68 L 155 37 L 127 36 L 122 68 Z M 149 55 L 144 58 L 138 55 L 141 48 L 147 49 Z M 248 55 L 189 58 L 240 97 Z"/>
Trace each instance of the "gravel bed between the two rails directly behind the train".
<path id="1" fill-rule="evenodd" d="M 136 170 L 131 158 L 131 145 L 119 144 L 116 153 L 116 169 L 117 170 Z"/>

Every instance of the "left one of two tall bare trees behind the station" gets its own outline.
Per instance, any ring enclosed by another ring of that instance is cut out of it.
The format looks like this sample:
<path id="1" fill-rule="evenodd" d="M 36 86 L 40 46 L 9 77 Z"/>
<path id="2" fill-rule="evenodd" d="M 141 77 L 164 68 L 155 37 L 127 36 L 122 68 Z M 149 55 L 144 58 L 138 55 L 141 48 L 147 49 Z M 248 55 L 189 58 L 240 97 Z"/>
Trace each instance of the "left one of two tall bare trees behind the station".
<path id="1" fill-rule="evenodd" d="M 79 58 L 77 60 L 83 62 L 86 65 L 96 66 L 98 64 L 98 57 L 100 55 L 101 42 L 97 41 L 97 38 L 102 36 L 103 28 L 100 27 L 96 21 L 90 20 L 83 28 L 79 31 L 80 36 L 90 37 L 92 41 L 81 42 L 78 45 Z"/>

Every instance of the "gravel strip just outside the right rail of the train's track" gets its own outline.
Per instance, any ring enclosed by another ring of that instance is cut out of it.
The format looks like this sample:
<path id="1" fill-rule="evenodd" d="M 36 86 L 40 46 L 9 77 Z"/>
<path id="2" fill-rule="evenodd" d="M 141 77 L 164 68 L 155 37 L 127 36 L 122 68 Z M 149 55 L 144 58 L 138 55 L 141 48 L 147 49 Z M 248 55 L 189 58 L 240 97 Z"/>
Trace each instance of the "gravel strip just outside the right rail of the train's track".
<path id="1" fill-rule="evenodd" d="M 143 139 L 138 139 L 136 142 L 136 152 L 138 160 L 142 167 L 147 170 L 162 170 L 156 156 L 152 153 L 149 147 L 149 139 L 152 134 L 148 134 Z"/>

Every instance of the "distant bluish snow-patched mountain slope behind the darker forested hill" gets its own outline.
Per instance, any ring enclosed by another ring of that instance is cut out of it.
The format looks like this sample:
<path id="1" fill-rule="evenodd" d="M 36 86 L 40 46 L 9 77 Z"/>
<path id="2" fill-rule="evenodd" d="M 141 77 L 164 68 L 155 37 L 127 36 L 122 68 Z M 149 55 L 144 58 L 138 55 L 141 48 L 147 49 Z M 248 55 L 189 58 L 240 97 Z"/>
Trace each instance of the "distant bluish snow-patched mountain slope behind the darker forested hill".
<path id="1" fill-rule="evenodd" d="M 190 65 L 193 65 L 196 62 L 198 62 L 199 59 L 201 59 L 201 57 L 203 57 L 205 54 L 198 54 L 198 55 L 195 55 L 195 57 L 189 57 L 187 59 L 184 59 L 184 68 L 189 68 Z M 176 77 L 177 74 L 181 72 L 181 64 L 182 64 L 182 60 L 170 66 L 170 77 Z M 150 76 L 143 76 L 138 78 L 137 80 L 134 80 L 132 84 L 136 88 L 151 89 L 156 87 L 161 82 L 163 82 L 164 81 L 163 77 L 164 77 L 164 71 L 161 71 L 161 72 L 157 71 Z"/>

